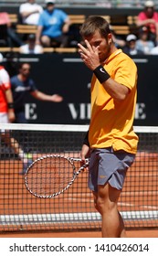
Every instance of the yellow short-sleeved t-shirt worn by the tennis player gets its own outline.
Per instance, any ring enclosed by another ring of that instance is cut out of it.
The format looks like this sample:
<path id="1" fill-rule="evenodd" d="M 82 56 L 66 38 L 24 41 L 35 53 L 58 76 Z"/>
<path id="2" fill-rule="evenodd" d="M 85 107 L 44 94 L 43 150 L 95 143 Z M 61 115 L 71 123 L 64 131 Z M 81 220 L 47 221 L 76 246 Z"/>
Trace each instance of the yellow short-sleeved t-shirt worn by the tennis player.
<path id="1" fill-rule="evenodd" d="M 136 104 L 137 67 L 133 60 L 117 49 L 104 65 L 111 79 L 127 86 L 130 93 L 124 101 L 116 102 L 93 75 L 91 80 L 91 118 L 89 142 L 91 148 L 112 146 L 114 151 L 135 154 L 138 136 L 132 123 Z"/>

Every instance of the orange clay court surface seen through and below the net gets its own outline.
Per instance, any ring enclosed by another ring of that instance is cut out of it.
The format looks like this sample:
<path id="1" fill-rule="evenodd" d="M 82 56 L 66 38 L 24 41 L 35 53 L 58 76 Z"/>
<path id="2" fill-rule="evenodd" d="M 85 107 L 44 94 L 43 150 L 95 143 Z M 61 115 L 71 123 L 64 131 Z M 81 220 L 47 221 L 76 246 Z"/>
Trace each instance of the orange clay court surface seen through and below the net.
<path id="1" fill-rule="evenodd" d="M 47 133 L 45 130 L 38 134 L 37 131 L 25 131 L 26 145 L 32 146 L 34 160 L 46 155 L 49 144 L 51 149 L 52 144 L 55 144 L 53 153 L 49 154 L 58 152 L 62 155 L 79 156 L 78 148 L 72 148 L 72 144 L 78 144 L 79 135 L 75 132 L 69 136 L 66 132 L 63 135 L 60 132 Z M 24 144 L 24 134 L 21 134 L 21 137 L 21 143 Z M 149 150 L 151 138 L 153 140 L 153 135 L 150 134 L 146 140 L 145 146 L 148 150 L 139 151 L 129 169 L 118 203 L 129 238 L 158 238 L 158 154 Z M 20 140 L 19 137 L 18 139 Z M 67 145 L 73 150 L 63 152 L 58 141 L 64 144 L 64 148 Z M 156 140 L 154 142 L 157 143 Z M 143 147 L 143 144 L 141 146 Z M 94 208 L 93 198 L 87 186 L 88 171 L 82 172 L 64 194 L 39 198 L 31 195 L 26 189 L 24 176 L 19 175 L 22 168 L 22 162 L 13 155 L 9 156 L 8 152 L 0 160 L 1 238 L 101 237 L 100 215 Z M 47 166 L 46 169 L 48 173 Z"/>

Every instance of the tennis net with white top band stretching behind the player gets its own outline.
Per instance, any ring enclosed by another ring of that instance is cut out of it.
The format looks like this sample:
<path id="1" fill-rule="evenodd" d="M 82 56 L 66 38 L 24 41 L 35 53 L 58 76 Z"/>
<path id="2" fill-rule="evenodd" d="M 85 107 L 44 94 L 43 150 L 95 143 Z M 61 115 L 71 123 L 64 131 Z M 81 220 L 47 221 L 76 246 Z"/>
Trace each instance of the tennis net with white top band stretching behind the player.
<path id="1" fill-rule="evenodd" d="M 24 182 L 22 155 L 8 143 L 8 136 L 27 157 L 66 155 L 79 157 L 88 125 L 1 124 L 0 231 L 100 229 L 84 171 L 64 194 L 37 198 Z M 158 228 L 158 127 L 134 127 L 139 135 L 138 153 L 128 170 L 119 200 L 127 229 Z M 26 156 L 25 156 L 26 157 Z"/>

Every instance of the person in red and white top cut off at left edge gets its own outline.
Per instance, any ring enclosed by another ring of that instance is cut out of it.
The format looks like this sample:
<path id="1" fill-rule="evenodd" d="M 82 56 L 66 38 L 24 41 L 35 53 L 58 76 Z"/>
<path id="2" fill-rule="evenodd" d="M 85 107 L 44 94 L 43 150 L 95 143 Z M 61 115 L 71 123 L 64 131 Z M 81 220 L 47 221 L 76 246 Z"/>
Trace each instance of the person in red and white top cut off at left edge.
<path id="1" fill-rule="evenodd" d="M 3 61 L 2 54 L 0 54 L 0 61 Z M 0 66 L 0 123 L 12 123 L 15 121 L 15 118 L 10 78 L 4 66 Z M 0 134 L 5 144 L 8 144 L 14 150 L 14 153 L 22 160 L 23 171 L 20 174 L 24 174 L 27 166 L 32 163 L 32 158 L 30 158 L 30 155 L 24 153 L 16 139 L 11 137 L 8 131 L 1 129 Z"/>

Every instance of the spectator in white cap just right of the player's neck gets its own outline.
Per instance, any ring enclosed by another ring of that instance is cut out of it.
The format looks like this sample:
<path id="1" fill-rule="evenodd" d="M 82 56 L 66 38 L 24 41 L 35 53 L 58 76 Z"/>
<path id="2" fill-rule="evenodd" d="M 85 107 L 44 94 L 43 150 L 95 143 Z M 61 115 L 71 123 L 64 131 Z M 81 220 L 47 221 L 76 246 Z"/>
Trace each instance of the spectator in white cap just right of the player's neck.
<path id="1" fill-rule="evenodd" d="M 126 46 L 122 48 L 123 52 L 128 55 L 137 55 L 143 54 L 142 50 L 136 48 L 137 37 L 133 34 L 130 34 L 126 37 Z"/>

